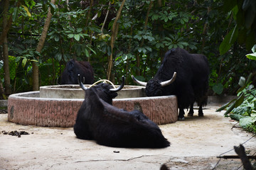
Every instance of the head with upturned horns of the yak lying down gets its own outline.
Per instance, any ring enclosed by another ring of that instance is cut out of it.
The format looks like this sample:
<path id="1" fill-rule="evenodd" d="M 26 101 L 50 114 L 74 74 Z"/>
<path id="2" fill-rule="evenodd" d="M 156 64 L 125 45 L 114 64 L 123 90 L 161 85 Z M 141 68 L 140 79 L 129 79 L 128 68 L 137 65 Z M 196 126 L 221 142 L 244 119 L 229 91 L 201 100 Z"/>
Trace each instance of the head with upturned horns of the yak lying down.
<path id="1" fill-rule="evenodd" d="M 87 87 L 85 87 L 82 84 L 79 74 L 78 74 L 78 82 L 80 84 L 80 87 L 85 91 Z M 112 99 L 117 96 L 117 91 L 120 91 L 123 87 L 124 87 L 124 77 L 122 77 L 122 84 L 117 89 L 113 89 L 110 84 L 105 84 L 105 83 L 97 84 L 90 88 L 94 89 L 97 96 L 99 96 L 103 101 L 110 103 L 112 105 Z"/>

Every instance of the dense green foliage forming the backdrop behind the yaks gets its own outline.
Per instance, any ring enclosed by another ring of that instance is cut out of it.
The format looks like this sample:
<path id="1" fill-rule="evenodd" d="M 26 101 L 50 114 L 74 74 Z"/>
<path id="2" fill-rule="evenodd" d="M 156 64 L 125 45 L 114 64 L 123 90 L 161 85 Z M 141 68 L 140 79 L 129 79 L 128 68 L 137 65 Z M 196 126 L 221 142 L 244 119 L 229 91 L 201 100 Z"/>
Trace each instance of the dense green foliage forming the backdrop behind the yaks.
<path id="1" fill-rule="evenodd" d="M 57 84 L 65 63 L 71 58 L 90 60 L 95 78 L 106 78 L 112 24 L 120 5 L 118 1 L 111 6 L 109 1 L 97 1 L 91 9 L 88 4 L 81 7 L 79 1 L 69 1 L 69 4 L 66 4 L 67 1 L 56 1 L 57 6 L 45 0 L 25 0 L 22 1 L 23 6 L 16 6 L 16 1 L 10 2 L 9 12 L 14 22 L 9 31 L 9 55 L 17 57 L 26 70 L 24 84 L 28 83 L 28 88 L 31 87 L 31 61 L 38 55 L 41 86 Z M 127 84 L 133 84 L 131 74 L 148 81 L 156 74 L 164 53 L 173 47 L 181 47 L 208 57 L 210 95 L 234 94 L 239 77 L 249 74 L 256 67 L 254 61 L 245 57 L 245 42 L 250 42 L 253 36 L 237 22 L 245 16 L 242 14 L 240 17 L 242 7 L 237 1 L 162 1 L 161 6 L 154 1 L 145 26 L 150 3 L 149 0 L 129 0 L 124 4 L 113 49 L 115 83 L 126 75 Z M 49 7 L 53 16 L 45 45 L 38 54 L 35 52 L 36 45 Z M 101 30 L 109 7 L 110 15 Z M 249 7 L 245 6 L 246 10 L 253 11 Z M 92 20 L 96 13 L 97 18 Z M 219 47 L 226 35 L 228 38 Z M 218 52 L 220 49 L 223 49 L 222 55 Z M 137 67 L 137 62 L 140 67 Z M 136 75 L 137 72 L 140 75 Z M 23 87 L 21 91 L 28 89 Z"/>

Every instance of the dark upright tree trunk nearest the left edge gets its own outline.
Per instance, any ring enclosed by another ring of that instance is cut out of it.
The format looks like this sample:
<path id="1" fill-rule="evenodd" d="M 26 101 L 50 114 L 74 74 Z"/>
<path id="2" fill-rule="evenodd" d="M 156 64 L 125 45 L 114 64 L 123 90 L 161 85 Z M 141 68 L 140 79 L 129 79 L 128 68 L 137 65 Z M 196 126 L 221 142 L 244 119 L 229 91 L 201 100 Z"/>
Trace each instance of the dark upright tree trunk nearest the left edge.
<path id="1" fill-rule="evenodd" d="M 4 1 L 4 15 L 3 15 L 3 29 L 8 29 L 8 9 L 9 0 Z M 10 17 L 11 18 L 11 17 Z M 7 33 L 3 36 L 3 57 L 4 57 L 4 86 L 5 94 L 8 96 L 11 94 L 11 81 L 10 81 L 10 71 L 9 71 L 9 54 L 8 54 L 8 44 L 7 44 Z M 4 32 L 4 31 L 3 31 Z"/>

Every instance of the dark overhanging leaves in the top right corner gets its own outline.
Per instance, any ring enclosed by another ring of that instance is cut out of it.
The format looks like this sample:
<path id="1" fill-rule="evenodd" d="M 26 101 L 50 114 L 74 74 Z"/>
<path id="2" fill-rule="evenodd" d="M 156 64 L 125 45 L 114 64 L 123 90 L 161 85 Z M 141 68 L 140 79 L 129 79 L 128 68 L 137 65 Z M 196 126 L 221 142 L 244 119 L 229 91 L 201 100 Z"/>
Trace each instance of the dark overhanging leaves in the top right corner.
<path id="1" fill-rule="evenodd" d="M 255 45 L 255 28 L 256 28 L 256 1 L 224 1 L 225 11 L 229 11 L 228 18 L 235 19 L 235 27 L 230 30 L 228 35 L 220 44 L 220 55 L 230 50 L 230 47 L 237 41 L 246 44 L 247 50 Z"/>

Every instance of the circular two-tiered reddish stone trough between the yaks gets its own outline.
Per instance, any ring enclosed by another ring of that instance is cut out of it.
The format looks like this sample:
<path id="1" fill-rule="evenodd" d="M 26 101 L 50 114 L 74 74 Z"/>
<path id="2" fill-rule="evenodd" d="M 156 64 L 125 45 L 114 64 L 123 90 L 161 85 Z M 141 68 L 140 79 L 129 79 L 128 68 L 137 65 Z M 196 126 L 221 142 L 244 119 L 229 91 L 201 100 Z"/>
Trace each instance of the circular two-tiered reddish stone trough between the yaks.
<path id="1" fill-rule="evenodd" d="M 65 89 L 64 94 L 68 94 L 67 88 L 63 88 L 63 86 L 75 86 L 68 89 L 77 91 L 80 97 L 73 94 L 70 95 L 73 98 L 44 96 L 47 93 L 42 92 L 43 87 L 40 91 L 12 94 L 8 99 L 9 121 L 21 125 L 73 127 L 78 110 L 84 101 L 85 92 L 79 89 L 78 85 L 59 85 L 56 88 L 51 86 L 48 89 L 53 91 Z M 141 97 L 135 96 L 135 92 L 131 92 L 134 89 Z M 50 92 L 50 94 L 52 93 Z M 131 98 L 131 95 L 135 97 Z M 175 123 L 178 120 L 176 96 L 144 97 L 144 89 L 141 86 L 124 86 L 124 89 L 118 92 L 118 96 L 119 98 L 113 100 L 113 106 L 124 108 L 127 111 L 134 109 L 142 111 L 158 125 Z"/>

